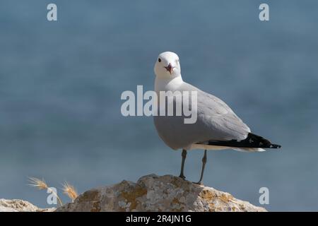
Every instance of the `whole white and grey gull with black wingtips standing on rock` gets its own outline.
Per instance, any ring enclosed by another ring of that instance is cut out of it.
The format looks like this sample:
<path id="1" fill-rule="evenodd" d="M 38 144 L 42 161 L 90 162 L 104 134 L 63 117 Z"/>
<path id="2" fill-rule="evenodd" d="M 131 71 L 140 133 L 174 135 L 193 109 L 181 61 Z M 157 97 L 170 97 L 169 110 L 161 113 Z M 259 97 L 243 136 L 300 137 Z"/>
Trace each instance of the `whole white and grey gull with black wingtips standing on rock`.
<path id="1" fill-rule="evenodd" d="M 197 119 L 195 123 L 185 124 L 184 115 L 169 116 L 165 114 L 154 115 L 153 117 L 155 128 L 164 143 L 173 150 L 182 149 L 181 172 L 179 175 L 182 179 L 185 179 L 184 162 L 187 157 L 187 150 L 204 150 L 201 175 L 199 182 L 196 183 L 202 184 L 207 150 L 230 148 L 245 152 L 260 152 L 264 151 L 264 148 L 281 148 L 281 145 L 273 144 L 269 140 L 252 133 L 247 124 L 237 117 L 232 109 L 218 97 L 184 82 L 181 76 L 179 57 L 174 52 L 159 54 L 154 71 L 157 95 L 162 91 L 179 91 L 183 98 L 184 91 L 196 91 Z M 158 103 L 157 107 L 160 111 Z M 191 107 L 191 103 L 188 107 Z"/>

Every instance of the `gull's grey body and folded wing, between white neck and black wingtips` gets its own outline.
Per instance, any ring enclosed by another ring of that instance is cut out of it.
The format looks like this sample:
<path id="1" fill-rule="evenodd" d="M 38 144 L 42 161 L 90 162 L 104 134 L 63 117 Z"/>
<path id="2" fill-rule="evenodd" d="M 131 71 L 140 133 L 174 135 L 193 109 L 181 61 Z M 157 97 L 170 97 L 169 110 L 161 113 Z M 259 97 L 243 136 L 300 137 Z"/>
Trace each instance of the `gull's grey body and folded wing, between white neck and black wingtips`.
<path id="1" fill-rule="evenodd" d="M 230 141 L 247 138 L 249 127 L 218 97 L 204 93 L 188 83 L 183 83 L 177 90 L 197 92 L 197 120 L 194 124 L 184 124 L 184 117 L 154 117 L 160 138 L 170 148 L 185 148 L 194 143 L 210 140 Z"/>

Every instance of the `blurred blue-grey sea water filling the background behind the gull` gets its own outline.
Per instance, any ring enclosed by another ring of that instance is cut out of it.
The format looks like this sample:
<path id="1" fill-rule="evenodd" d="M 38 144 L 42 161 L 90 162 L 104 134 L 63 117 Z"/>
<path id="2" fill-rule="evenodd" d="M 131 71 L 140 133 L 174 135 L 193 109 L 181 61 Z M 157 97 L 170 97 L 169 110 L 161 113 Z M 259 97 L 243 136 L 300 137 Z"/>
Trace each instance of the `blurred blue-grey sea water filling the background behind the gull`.
<path id="1" fill-rule="evenodd" d="M 47 21 L 47 4 L 58 21 Z M 259 20 L 259 4 L 270 20 Z M 204 184 L 268 210 L 318 210 L 318 2 L 0 1 L 0 198 L 47 207 L 28 177 L 81 193 L 145 174 L 179 175 L 181 152 L 151 117 L 123 117 L 124 90 L 153 90 L 160 52 L 184 81 L 227 102 L 283 148 L 208 153 Z M 203 151 L 188 154 L 197 181 Z M 62 195 L 61 195 L 62 196 Z M 62 196 L 64 201 L 68 198 Z"/>

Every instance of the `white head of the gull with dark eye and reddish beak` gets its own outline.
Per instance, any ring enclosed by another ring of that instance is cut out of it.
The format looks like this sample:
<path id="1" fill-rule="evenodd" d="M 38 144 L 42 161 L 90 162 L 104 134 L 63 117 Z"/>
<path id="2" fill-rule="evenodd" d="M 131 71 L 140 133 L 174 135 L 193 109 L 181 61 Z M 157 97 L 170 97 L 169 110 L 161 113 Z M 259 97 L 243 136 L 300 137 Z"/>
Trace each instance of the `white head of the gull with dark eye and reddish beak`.
<path id="1" fill-rule="evenodd" d="M 155 62 L 155 76 L 159 78 L 175 78 L 181 76 L 179 57 L 174 52 L 159 54 Z"/>

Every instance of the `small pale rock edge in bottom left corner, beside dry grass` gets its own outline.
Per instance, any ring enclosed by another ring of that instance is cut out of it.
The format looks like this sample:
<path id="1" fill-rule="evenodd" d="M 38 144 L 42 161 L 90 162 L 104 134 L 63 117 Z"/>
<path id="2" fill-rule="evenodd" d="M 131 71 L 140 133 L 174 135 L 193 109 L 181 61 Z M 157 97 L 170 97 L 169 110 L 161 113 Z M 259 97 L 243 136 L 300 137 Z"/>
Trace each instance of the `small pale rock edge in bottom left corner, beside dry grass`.
<path id="1" fill-rule="evenodd" d="M 42 209 L 20 199 L 0 199 L 0 212 L 53 212 L 55 208 Z"/>

